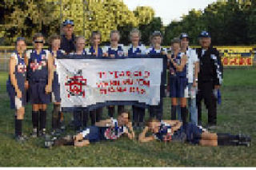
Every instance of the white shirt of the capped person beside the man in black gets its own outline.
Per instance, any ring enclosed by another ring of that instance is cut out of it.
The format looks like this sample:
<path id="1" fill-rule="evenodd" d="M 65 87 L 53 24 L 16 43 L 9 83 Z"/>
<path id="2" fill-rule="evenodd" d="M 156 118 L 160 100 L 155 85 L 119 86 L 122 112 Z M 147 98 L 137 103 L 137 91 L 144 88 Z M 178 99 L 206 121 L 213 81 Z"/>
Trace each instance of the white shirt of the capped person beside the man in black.
<path id="1" fill-rule="evenodd" d="M 183 55 L 184 53 L 182 53 Z M 194 64 L 198 62 L 198 54 L 194 49 L 188 48 L 186 50 L 186 56 L 187 56 L 187 61 L 186 61 L 186 77 L 188 79 L 189 83 L 193 83 L 194 81 Z"/>

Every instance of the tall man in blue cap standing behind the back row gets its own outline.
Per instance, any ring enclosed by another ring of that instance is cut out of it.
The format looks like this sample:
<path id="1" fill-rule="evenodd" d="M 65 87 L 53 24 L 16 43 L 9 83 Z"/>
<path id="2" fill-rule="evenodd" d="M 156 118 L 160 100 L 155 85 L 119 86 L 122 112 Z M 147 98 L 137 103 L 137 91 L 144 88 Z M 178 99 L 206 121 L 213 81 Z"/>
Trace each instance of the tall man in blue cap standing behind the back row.
<path id="1" fill-rule="evenodd" d="M 67 54 L 74 52 L 74 22 L 72 20 L 65 20 L 62 25 L 62 31 L 64 34 L 61 38 L 61 49 L 63 49 Z"/>

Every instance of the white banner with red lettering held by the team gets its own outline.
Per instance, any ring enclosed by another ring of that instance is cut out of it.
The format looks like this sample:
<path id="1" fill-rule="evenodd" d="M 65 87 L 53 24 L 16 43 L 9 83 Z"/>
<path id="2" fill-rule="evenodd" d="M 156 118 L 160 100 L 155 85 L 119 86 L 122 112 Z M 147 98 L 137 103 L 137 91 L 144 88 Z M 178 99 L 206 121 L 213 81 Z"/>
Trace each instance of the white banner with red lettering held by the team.
<path id="1" fill-rule="evenodd" d="M 62 108 L 160 102 L 163 58 L 58 59 L 57 71 Z"/>

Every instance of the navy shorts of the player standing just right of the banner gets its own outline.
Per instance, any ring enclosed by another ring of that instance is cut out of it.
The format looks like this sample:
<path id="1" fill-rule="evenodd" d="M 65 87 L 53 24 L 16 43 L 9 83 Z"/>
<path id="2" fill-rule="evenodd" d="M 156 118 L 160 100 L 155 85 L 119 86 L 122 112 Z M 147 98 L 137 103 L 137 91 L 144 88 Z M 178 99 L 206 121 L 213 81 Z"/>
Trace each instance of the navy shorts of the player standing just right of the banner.
<path id="1" fill-rule="evenodd" d="M 185 97 L 185 89 L 187 85 L 186 77 L 170 77 L 170 97 L 182 98 Z"/>

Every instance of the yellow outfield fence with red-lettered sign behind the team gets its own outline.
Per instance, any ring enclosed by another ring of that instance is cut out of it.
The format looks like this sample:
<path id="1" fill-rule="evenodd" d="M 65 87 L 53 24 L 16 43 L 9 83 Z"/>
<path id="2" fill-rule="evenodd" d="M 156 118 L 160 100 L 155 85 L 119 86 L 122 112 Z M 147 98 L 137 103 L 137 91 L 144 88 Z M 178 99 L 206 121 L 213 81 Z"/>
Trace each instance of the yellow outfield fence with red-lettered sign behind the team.
<path id="1" fill-rule="evenodd" d="M 14 46 L 0 46 L 0 71 L 8 71 L 10 54 Z M 47 48 L 47 47 L 45 47 Z M 256 61 L 255 46 L 216 46 L 224 66 L 251 66 Z M 32 49 L 29 46 L 27 49 Z"/>

